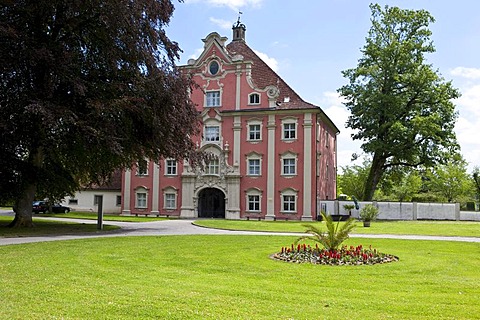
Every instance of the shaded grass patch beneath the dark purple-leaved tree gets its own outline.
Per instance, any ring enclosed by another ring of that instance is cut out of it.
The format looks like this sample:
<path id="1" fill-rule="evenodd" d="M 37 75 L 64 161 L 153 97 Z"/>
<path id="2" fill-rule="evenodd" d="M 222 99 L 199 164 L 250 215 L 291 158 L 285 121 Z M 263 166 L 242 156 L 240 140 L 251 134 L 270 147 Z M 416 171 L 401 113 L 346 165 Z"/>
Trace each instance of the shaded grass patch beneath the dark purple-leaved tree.
<path id="1" fill-rule="evenodd" d="M 105 232 L 119 229 L 117 226 L 103 225 L 103 230 L 97 230 L 96 224 L 63 222 L 33 218 L 34 228 L 16 229 L 6 227 L 12 222 L 13 216 L 0 216 L 0 237 L 35 237 L 59 234 L 82 234 L 91 232 Z"/>

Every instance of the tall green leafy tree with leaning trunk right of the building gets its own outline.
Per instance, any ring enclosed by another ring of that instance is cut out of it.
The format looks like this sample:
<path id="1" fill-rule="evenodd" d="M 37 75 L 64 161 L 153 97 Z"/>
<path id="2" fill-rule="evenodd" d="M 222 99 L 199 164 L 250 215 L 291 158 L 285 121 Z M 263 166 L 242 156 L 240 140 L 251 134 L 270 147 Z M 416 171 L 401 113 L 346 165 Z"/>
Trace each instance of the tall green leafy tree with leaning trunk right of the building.
<path id="1" fill-rule="evenodd" d="M 424 57 L 435 51 L 428 29 L 434 18 L 425 10 L 370 8 L 363 57 L 343 71 L 349 84 L 338 90 L 351 112 L 346 126 L 372 155 L 364 200 L 372 199 L 384 172 L 434 166 L 458 148 L 451 100 L 459 92 Z"/>

